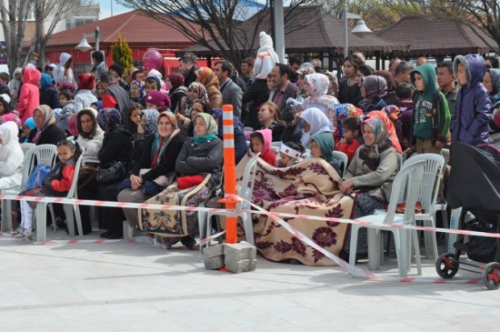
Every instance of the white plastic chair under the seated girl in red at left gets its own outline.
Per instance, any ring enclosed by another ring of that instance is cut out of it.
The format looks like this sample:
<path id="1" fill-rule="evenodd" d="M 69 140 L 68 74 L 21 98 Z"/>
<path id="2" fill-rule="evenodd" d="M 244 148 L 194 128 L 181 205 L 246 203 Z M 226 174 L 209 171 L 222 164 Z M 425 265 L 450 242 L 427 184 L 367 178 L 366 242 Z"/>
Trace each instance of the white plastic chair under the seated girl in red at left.
<path id="1" fill-rule="evenodd" d="M 84 157 L 84 152 L 78 157 L 75 163 L 75 175 L 73 176 L 73 181 L 66 195 L 66 198 L 78 198 L 77 187 L 78 187 L 78 174 L 80 173 L 80 166 L 82 166 L 82 159 Z M 36 220 L 36 241 L 45 241 L 47 229 L 46 229 L 46 206 L 50 203 L 38 202 L 35 208 L 35 220 Z M 67 221 L 67 228 L 69 231 L 69 236 L 75 236 L 75 220 L 73 219 L 73 212 L 75 211 L 76 216 L 76 226 L 78 227 L 78 234 L 80 237 L 83 236 L 84 231 L 82 228 L 82 218 L 80 217 L 80 208 L 76 204 L 64 204 L 65 215 Z"/>

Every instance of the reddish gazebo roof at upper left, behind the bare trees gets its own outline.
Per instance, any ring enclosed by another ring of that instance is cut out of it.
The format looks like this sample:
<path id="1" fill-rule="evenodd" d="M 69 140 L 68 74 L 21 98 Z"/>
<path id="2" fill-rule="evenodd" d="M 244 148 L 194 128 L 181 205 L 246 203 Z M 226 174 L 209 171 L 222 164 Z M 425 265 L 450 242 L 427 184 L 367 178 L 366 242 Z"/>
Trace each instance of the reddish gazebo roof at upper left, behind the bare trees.
<path id="1" fill-rule="evenodd" d="M 174 30 L 153 18 L 131 11 L 115 15 L 103 20 L 76 26 L 72 29 L 52 35 L 48 47 L 72 46 L 78 44 L 82 35 L 89 35 L 99 26 L 99 43 L 103 45 L 115 44 L 117 36 L 121 35 L 129 45 L 193 45 L 182 32 Z M 95 37 L 86 38 L 89 43 L 95 42 Z M 177 48 L 177 47 L 176 47 Z"/>

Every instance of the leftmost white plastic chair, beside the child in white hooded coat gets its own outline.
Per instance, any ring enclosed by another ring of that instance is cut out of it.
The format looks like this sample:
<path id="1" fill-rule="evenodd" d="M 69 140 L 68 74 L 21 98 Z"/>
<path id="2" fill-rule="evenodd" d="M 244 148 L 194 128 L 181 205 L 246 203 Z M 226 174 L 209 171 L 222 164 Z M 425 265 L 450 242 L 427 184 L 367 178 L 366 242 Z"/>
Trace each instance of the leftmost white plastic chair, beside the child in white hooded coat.
<path id="1" fill-rule="evenodd" d="M 57 146 L 52 144 L 44 144 L 40 146 L 32 146 L 25 153 L 25 160 L 23 164 L 23 177 L 21 180 L 21 186 L 9 188 L 2 190 L 2 194 L 9 196 L 17 196 L 20 192 L 25 190 L 29 176 L 33 173 L 35 169 L 35 161 L 37 164 L 44 164 L 46 166 L 55 166 L 55 160 L 57 156 Z M 12 205 L 14 202 L 7 199 L 2 199 L 2 231 L 10 232 L 12 231 Z"/>

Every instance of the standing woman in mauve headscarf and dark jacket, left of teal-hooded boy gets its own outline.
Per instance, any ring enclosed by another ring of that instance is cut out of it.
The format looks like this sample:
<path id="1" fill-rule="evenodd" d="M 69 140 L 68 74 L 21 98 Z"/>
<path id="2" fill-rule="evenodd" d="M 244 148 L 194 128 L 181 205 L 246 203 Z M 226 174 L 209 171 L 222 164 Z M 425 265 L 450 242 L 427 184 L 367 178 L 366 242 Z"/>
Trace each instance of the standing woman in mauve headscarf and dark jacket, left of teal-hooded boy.
<path id="1" fill-rule="evenodd" d="M 357 105 L 367 114 L 370 111 L 381 110 L 385 104 L 384 97 L 387 96 L 387 81 L 382 76 L 369 75 L 361 78 L 361 96 L 363 100 Z"/>

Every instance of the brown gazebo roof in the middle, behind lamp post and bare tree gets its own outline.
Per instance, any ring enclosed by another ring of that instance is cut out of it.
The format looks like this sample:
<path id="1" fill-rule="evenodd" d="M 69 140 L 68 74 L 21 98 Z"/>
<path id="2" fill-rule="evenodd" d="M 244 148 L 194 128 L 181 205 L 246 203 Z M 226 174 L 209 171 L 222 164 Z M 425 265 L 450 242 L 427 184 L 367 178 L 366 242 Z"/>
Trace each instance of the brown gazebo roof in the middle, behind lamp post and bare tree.
<path id="1" fill-rule="evenodd" d="M 285 7 L 285 16 L 289 11 Z M 249 31 L 254 31 L 257 15 L 250 17 L 245 25 L 250 26 Z M 285 52 L 286 53 L 312 53 L 312 52 L 331 52 L 333 55 L 342 56 L 344 53 L 344 23 L 343 20 L 334 17 L 325 12 L 321 6 L 304 6 L 296 8 L 290 14 L 291 18 L 285 25 Z M 304 28 L 293 29 L 292 25 L 297 22 L 307 21 Z M 353 27 L 349 26 L 349 30 Z M 259 25 L 259 31 L 269 31 L 268 15 Z M 291 31 L 292 30 L 292 31 Z M 209 42 L 215 50 L 219 47 L 214 41 Z M 258 38 L 256 37 L 252 44 L 252 49 L 258 49 Z M 405 44 L 397 44 L 379 37 L 375 34 L 365 37 L 358 37 L 349 34 L 349 50 L 361 51 L 368 55 L 373 55 L 375 51 L 382 53 L 391 53 L 394 51 L 406 51 Z M 184 52 L 193 52 L 196 55 L 214 55 L 214 52 L 202 45 L 193 45 L 184 50 L 176 52 L 182 55 Z"/>

